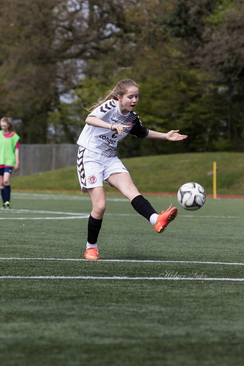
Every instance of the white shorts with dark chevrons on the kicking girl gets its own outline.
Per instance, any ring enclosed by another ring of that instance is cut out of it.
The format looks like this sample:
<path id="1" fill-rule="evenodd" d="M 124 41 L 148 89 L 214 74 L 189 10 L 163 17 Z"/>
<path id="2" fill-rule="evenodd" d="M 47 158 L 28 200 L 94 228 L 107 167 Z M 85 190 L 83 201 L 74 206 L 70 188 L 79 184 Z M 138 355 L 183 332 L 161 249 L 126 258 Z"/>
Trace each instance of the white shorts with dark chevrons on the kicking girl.
<path id="1" fill-rule="evenodd" d="M 83 146 L 79 146 L 77 157 L 77 172 L 82 192 L 87 188 L 103 187 L 103 182 L 111 174 L 128 173 L 123 163 L 116 157 L 108 157 Z M 108 182 L 105 182 L 109 184 Z M 109 184 L 110 185 L 110 184 Z"/>

